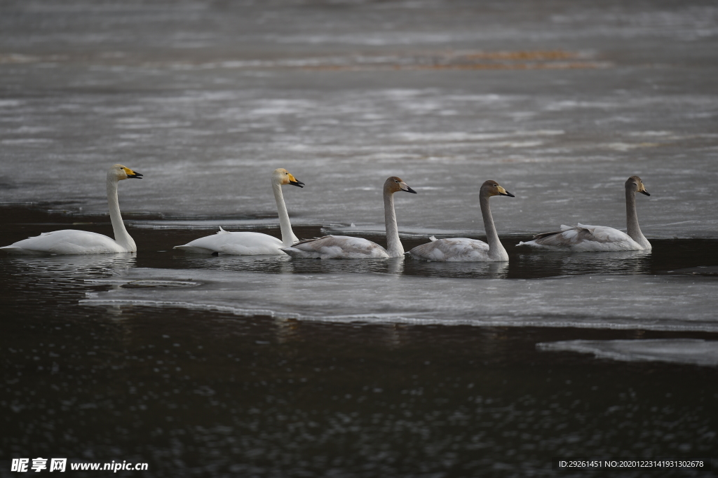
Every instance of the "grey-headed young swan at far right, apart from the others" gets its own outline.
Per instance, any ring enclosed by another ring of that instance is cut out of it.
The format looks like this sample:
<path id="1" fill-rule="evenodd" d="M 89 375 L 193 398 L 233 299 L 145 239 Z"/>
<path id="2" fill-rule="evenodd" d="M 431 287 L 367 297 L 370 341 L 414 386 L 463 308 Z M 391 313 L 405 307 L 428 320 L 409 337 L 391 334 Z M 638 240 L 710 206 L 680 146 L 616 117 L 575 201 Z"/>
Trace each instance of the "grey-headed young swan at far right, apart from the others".
<path id="1" fill-rule="evenodd" d="M 635 193 L 650 196 L 638 176 L 631 176 L 625 182 L 627 233 L 605 226 L 579 223 L 576 226 L 561 225 L 561 230 L 533 236 L 533 240 L 518 245 L 536 249 L 570 250 L 573 252 L 598 252 L 605 250 L 651 250 L 651 243 L 640 232 L 638 215 L 635 212 Z"/>

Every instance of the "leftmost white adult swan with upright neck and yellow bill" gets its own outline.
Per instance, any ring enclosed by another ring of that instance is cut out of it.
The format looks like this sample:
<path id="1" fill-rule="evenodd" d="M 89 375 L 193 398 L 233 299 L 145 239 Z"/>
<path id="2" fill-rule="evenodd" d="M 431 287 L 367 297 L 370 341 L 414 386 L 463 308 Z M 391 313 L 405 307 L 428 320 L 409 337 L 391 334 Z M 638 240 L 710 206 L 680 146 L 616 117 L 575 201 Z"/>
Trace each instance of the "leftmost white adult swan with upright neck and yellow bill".
<path id="1" fill-rule="evenodd" d="M 19 240 L 6 245 L 3 250 L 11 254 L 108 254 L 134 253 L 137 246 L 125 229 L 117 201 L 117 182 L 123 179 L 142 179 L 142 174 L 121 164 L 113 165 L 107 172 L 107 202 L 115 239 L 86 230 L 63 229 L 42 233 L 34 238 Z"/>

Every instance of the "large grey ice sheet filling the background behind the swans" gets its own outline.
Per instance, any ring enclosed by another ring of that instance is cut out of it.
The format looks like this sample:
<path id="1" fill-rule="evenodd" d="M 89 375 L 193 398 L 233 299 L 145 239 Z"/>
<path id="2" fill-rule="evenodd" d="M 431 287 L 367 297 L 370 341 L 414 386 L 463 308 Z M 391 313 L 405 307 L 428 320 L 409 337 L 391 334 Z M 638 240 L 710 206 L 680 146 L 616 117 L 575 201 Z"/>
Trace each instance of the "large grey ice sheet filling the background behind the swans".
<path id="1" fill-rule="evenodd" d="M 401 231 L 481 233 L 495 179 L 499 232 L 538 233 L 625 228 L 638 174 L 648 238 L 716 236 L 716 6 L 270 3 L 12 4 L 0 202 L 105 212 L 118 162 L 145 174 L 123 211 L 266 218 L 286 167 L 297 224 L 381 230 L 398 175 Z"/>

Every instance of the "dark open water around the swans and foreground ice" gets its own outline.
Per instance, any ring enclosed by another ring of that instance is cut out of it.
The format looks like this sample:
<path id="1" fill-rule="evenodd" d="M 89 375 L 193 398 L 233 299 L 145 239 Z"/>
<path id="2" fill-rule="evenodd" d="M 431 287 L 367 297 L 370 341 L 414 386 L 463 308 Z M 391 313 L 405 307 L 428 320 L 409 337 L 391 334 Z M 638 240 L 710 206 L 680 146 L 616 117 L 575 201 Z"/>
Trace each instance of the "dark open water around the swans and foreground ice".
<path id="1" fill-rule="evenodd" d="M 3 211 L 4 244 L 65 227 L 60 222 L 78 222 L 17 208 Z M 85 219 L 93 220 L 98 218 Z M 106 222 L 88 228 L 109 232 Z M 139 252 L 118 257 L 117 266 L 261 267 L 167 250 L 169 240 L 204 231 L 131 233 Z M 701 252 L 715 245 L 715 240 L 656 241 L 653 253 L 639 258 L 632 271 L 612 273 L 715 266 L 715 253 Z M 664 252 L 668 249 L 673 252 Z M 544 255 L 538 261 L 535 254 L 509 252 L 503 273 L 508 280 L 579 273 L 570 256 Z M 295 262 L 306 265 L 292 273 L 331 270 L 345 261 Z M 386 263 L 366 267 L 391 273 Z M 714 366 L 619 362 L 541 352 L 536 344 L 715 340 L 718 334 L 332 324 L 84 306 L 78 301 L 86 292 L 107 289 L 87 282 L 112 276 L 106 262 L 78 268 L 67 258 L 3 257 L 0 266 L 2 476 L 17 476 L 9 472 L 10 458 L 37 456 L 146 462 L 149 470 L 141 476 L 158 477 L 614 476 L 605 470 L 559 471 L 551 459 L 687 458 L 714 456 L 716 450 Z M 600 267 L 595 263 L 596 272 Z M 711 280 L 714 268 L 706 270 Z M 470 276 L 467 270 L 422 269 L 410 262 L 403 273 Z M 711 473 L 634 470 L 619 476 Z"/>

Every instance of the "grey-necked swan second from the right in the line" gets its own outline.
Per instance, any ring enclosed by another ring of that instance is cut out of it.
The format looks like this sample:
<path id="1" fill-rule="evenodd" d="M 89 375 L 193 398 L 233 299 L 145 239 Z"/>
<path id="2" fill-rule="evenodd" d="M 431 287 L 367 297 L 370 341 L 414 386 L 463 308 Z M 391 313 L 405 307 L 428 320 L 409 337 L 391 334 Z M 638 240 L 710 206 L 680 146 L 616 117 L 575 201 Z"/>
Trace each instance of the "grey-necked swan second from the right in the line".
<path id="1" fill-rule="evenodd" d="M 417 245 L 409 250 L 409 255 L 415 259 L 439 262 L 505 262 L 508 253 L 498 240 L 498 234 L 491 217 L 489 198 L 492 196 L 515 197 L 495 181 L 486 181 L 479 191 L 479 206 L 484 218 L 486 240 L 468 238 L 450 238 L 437 240 L 432 236 L 432 242 Z"/>

